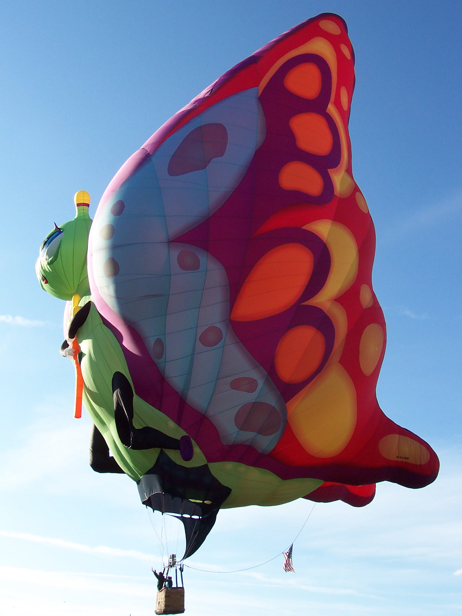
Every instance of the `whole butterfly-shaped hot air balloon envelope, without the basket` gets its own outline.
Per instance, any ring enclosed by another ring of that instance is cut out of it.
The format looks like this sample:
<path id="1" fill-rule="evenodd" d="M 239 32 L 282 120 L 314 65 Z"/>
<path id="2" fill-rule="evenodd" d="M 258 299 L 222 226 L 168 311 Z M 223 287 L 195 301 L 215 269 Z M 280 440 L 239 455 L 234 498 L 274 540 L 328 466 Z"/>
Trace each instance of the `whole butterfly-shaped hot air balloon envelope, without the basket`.
<path id="1" fill-rule="evenodd" d="M 42 246 L 92 464 L 179 516 L 185 557 L 220 508 L 363 505 L 376 482 L 437 476 L 431 447 L 376 400 L 386 328 L 351 168 L 354 80 L 343 20 L 301 23 L 158 129 L 92 224 L 78 193 Z"/>

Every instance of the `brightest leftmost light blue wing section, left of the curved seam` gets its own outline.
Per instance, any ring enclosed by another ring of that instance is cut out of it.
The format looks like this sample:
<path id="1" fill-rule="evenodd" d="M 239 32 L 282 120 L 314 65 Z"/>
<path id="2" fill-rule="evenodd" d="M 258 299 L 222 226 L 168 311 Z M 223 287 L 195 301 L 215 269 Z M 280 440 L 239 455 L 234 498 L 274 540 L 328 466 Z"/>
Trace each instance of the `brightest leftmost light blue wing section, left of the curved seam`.
<path id="1" fill-rule="evenodd" d="M 156 338 L 165 338 L 170 257 L 162 196 L 150 160 L 94 222 L 92 261 L 99 293 L 152 349 Z"/>

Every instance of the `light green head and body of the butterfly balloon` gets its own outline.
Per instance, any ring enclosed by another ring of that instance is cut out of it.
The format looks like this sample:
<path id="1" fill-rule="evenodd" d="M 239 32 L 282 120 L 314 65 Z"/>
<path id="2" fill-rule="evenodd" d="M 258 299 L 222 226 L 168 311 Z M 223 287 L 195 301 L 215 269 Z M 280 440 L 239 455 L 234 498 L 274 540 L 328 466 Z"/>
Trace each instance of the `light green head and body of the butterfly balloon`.
<path id="1" fill-rule="evenodd" d="M 86 266 L 91 223 L 88 208 L 78 206 L 75 219 L 47 235 L 36 263 L 41 287 L 55 298 L 67 301 L 79 296 L 76 299 L 80 307 L 91 300 Z M 84 406 L 121 469 L 138 481 L 152 469 L 161 450 L 133 450 L 120 440 L 114 416 L 113 375 L 122 373 L 133 389 L 134 386 L 121 346 L 104 325 L 94 304 L 91 304 L 89 315 L 77 331 L 76 338 L 80 347 Z M 175 439 L 185 434 L 174 421 L 136 394 L 133 404 L 135 428 L 151 426 Z M 190 461 L 182 460 L 177 450 L 166 450 L 166 454 L 174 463 L 188 468 L 207 464 L 211 474 L 231 489 L 221 508 L 280 505 L 301 498 L 323 484 L 320 479 L 310 478 L 282 480 L 268 470 L 235 461 L 208 463 L 195 442 L 193 447 L 194 455 Z"/>

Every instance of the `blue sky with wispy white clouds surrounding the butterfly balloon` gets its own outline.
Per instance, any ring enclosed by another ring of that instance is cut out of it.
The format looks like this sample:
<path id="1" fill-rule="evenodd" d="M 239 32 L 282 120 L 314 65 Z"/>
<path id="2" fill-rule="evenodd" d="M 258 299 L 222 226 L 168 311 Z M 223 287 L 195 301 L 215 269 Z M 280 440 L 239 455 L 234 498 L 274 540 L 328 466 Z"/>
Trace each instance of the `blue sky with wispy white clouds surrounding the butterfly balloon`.
<path id="1" fill-rule="evenodd" d="M 153 614 L 160 519 L 128 477 L 88 466 L 60 357 L 63 302 L 34 274 L 53 221 L 91 215 L 121 164 L 235 63 L 320 12 L 346 19 L 356 54 L 355 180 L 377 232 L 373 282 L 388 343 L 378 399 L 440 456 L 424 490 L 378 486 L 364 509 L 317 505 L 282 557 L 233 575 L 188 570 L 190 616 L 452 615 L 462 609 L 462 308 L 459 2 L 247 0 L 2 3 L 0 182 L 0 606 L 2 614 Z M 219 514 L 191 559 L 265 561 L 312 505 Z M 176 548 L 177 529 L 166 529 Z M 180 544 L 177 548 L 180 551 Z"/>

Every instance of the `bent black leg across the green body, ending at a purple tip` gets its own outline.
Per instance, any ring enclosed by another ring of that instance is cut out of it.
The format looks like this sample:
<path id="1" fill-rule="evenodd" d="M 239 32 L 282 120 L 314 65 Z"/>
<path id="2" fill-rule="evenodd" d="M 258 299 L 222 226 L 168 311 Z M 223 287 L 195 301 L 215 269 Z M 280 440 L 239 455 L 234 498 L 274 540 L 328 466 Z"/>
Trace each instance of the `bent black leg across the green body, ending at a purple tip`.
<path id="1" fill-rule="evenodd" d="M 112 392 L 114 397 L 114 417 L 119 438 L 129 449 L 179 449 L 180 441 L 167 436 L 160 430 L 145 426 L 133 426 L 133 389 L 128 378 L 121 372 L 115 372 L 112 377 Z"/>

